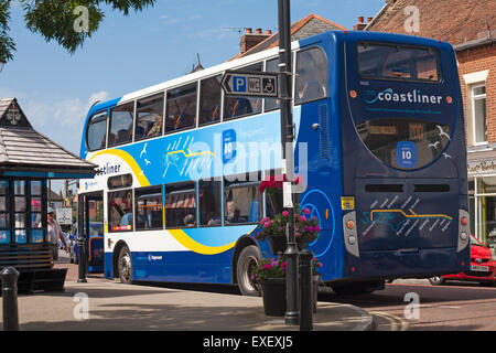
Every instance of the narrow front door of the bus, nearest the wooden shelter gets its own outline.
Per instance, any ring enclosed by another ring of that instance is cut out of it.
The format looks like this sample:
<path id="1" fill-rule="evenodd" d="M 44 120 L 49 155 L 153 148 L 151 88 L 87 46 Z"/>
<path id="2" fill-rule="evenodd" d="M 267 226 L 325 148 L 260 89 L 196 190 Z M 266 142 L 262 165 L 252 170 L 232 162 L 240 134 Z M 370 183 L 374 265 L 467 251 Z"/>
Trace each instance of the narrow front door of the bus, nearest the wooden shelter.
<path id="1" fill-rule="evenodd" d="M 83 196 L 87 272 L 104 274 L 104 193 Z"/>

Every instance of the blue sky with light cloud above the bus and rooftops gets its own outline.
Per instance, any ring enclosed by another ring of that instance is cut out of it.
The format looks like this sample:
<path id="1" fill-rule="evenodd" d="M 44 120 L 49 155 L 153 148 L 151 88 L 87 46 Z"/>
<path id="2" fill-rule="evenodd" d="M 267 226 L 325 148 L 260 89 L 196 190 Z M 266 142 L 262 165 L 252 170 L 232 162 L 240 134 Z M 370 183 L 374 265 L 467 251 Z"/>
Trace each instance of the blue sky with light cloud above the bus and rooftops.
<path id="1" fill-rule="evenodd" d="M 385 0 L 292 0 L 291 20 L 316 13 L 352 29 Z M 109 9 L 99 31 L 68 54 L 25 29 L 12 9 L 13 62 L 0 73 L 0 97 L 18 97 L 36 130 L 78 154 L 85 116 L 96 99 L 110 99 L 191 71 L 201 56 L 209 67 L 239 53 L 236 28 L 277 32 L 277 0 L 159 0 L 125 17 Z"/>

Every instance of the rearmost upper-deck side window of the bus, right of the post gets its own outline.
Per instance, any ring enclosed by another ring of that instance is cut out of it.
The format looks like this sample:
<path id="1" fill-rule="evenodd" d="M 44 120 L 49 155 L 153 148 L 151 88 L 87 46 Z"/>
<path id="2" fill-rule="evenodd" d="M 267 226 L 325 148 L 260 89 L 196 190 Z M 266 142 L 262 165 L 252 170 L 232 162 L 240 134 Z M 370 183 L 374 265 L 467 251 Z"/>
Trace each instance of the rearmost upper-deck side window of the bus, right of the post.
<path id="1" fill-rule="evenodd" d="M 296 92 L 294 104 L 327 96 L 327 58 L 317 47 L 296 53 Z"/>

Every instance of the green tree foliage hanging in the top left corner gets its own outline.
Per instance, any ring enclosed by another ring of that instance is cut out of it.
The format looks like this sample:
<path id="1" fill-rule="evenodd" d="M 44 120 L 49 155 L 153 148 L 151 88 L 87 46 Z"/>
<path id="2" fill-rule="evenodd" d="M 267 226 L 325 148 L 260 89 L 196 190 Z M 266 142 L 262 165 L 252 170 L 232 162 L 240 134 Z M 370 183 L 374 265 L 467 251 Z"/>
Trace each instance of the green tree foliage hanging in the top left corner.
<path id="1" fill-rule="evenodd" d="M 56 41 L 74 54 L 83 46 L 85 40 L 98 31 L 105 19 L 103 6 L 120 11 L 128 15 L 130 11 L 142 11 L 152 7 L 157 0 L 19 0 L 24 10 L 26 28 L 41 34 L 46 42 Z M 13 58 L 15 43 L 9 35 L 11 0 L 0 1 L 0 62 L 9 62 Z M 84 7 L 87 13 L 87 28 L 76 31 L 75 23 L 80 21 Z"/>

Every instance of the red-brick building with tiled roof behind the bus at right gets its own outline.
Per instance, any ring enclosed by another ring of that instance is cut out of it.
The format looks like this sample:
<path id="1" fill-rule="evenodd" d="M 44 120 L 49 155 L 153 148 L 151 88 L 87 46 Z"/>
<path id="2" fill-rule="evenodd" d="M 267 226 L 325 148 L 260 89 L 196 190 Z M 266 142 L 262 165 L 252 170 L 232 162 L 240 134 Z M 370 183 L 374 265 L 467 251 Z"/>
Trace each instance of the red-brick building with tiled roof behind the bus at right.
<path id="1" fill-rule="evenodd" d="M 496 1 L 386 0 L 354 30 L 446 41 L 459 62 L 465 110 L 472 232 L 496 243 Z"/>

